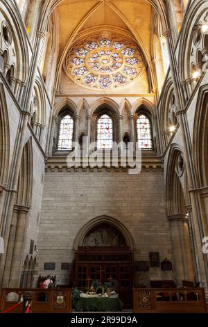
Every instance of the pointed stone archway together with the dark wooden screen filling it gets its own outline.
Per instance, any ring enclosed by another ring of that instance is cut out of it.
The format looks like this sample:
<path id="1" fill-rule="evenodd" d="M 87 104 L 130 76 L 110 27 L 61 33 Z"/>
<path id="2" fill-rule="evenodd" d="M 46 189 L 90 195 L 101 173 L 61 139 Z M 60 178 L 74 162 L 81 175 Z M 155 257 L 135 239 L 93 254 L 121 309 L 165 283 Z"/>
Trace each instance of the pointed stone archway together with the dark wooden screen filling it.
<path id="1" fill-rule="evenodd" d="M 96 280 L 105 286 L 116 282 L 126 308 L 132 305 L 132 238 L 123 224 L 101 216 L 83 226 L 74 244 L 74 283 L 85 289 Z"/>

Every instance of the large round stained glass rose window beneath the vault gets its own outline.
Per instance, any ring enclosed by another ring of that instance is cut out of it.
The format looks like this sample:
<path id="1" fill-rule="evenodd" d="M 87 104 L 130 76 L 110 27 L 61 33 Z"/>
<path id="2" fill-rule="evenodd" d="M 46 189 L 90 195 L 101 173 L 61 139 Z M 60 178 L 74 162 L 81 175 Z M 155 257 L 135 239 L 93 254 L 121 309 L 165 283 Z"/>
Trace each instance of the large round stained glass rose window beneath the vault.
<path id="1" fill-rule="evenodd" d="M 73 46 L 66 66 L 73 81 L 106 90 L 135 80 L 144 70 L 144 61 L 139 48 L 128 40 L 96 38 Z"/>

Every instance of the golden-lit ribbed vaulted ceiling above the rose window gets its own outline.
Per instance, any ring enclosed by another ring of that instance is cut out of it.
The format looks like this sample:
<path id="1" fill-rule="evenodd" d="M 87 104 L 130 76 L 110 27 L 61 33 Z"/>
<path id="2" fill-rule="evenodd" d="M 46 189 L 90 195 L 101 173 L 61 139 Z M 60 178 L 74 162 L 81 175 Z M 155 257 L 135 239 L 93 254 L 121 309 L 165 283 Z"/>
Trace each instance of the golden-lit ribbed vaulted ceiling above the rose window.
<path id="1" fill-rule="evenodd" d="M 150 51 L 151 5 L 146 0 L 56 0 L 59 17 L 60 56 L 69 40 L 83 29 L 101 25 L 121 27 Z M 54 8 L 54 7 L 52 7 Z"/>

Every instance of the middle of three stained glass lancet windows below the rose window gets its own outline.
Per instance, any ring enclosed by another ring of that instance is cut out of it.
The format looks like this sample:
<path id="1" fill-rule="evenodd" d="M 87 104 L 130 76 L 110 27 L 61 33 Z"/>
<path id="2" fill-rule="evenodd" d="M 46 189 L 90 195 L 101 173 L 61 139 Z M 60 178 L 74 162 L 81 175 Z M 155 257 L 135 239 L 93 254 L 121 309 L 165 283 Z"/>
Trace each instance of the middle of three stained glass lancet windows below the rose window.
<path id="1" fill-rule="evenodd" d="M 98 150 L 111 150 L 113 143 L 112 119 L 109 115 L 101 115 L 97 125 L 97 148 Z"/>

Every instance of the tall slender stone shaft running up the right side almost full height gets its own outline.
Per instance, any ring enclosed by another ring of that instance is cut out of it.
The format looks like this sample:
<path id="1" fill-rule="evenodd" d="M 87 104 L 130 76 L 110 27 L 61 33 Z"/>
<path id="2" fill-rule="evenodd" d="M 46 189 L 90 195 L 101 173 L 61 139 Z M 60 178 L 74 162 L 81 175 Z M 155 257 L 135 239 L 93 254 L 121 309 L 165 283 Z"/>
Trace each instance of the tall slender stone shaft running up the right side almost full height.
<path id="1" fill-rule="evenodd" d="M 189 133 L 189 124 L 187 120 L 187 113 L 184 111 L 185 98 L 182 91 L 180 76 L 178 74 L 177 58 L 175 56 L 175 48 L 173 44 L 173 37 L 171 30 L 164 32 L 167 40 L 168 52 L 170 56 L 171 75 L 173 78 L 173 86 L 175 90 L 175 100 L 177 105 L 177 117 L 182 130 L 182 143 L 184 149 L 184 159 L 187 167 L 187 180 L 190 191 L 191 205 L 193 209 L 193 230 L 196 234 L 197 240 L 197 253 L 195 257 L 196 264 L 198 265 L 198 274 L 201 276 L 201 285 L 207 287 L 208 285 L 208 257 L 202 254 L 202 239 L 207 236 L 207 227 L 202 215 L 201 199 L 198 196 L 198 178 L 193 166 L 193 156 L 191 147 L 191 137 Z"/>

